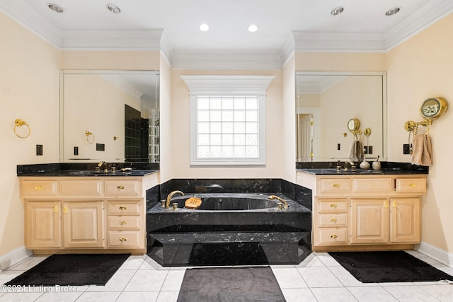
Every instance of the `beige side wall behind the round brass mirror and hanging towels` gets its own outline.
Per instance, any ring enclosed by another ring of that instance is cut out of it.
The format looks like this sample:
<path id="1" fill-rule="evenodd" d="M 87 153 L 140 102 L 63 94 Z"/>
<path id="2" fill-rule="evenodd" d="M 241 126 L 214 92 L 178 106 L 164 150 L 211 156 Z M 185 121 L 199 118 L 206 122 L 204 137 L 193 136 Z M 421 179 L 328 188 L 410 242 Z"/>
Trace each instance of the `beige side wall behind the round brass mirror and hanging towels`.
<path id="1" fill-rule="evenodd" d="M 450 14 L 386 54 L 391 161 L 411 161 L 403 155 L 403 144 L 408 141 L 403 124 L 423 120 L 418 112 L 423 100 L 442 96 L 453 105 L 452 33 Z M 450 108 L 430 127 L 433 163 L 422 211 L 422 240 L 449 252 L 453 252 L 452 125 Z"/>

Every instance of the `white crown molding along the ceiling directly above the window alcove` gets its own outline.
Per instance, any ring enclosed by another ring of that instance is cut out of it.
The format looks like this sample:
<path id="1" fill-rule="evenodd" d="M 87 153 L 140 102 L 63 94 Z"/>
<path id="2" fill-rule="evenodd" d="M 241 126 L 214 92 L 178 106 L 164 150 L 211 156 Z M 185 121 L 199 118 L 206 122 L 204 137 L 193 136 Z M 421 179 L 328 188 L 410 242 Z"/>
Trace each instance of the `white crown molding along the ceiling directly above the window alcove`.
<path id="1" fill-rule="evenodd" d="M 176 69 L 281 69 L 277 51 L 219 52 L 219 50 L 173 53 L 171 66 Z"/>

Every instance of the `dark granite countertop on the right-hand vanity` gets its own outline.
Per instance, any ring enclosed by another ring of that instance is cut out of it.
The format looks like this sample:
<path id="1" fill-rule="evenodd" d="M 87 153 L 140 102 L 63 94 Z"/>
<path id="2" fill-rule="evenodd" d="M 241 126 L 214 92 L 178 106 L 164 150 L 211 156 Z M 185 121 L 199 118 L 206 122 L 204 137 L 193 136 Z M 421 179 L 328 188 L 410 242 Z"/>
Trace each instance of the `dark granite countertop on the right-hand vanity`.
<path id="1" fill-rule="evenodd" d="M 426 170 L 405 170 L 401 168 L 385 168 L 382 170 L 364 170 L 358 168 L 355 171 L 337 170 L 336 168 L 304 168 L 297 169 L 298 172 L 305 172 L 314 175 L 410 175 L 410 174 L 428 174 Z"/>

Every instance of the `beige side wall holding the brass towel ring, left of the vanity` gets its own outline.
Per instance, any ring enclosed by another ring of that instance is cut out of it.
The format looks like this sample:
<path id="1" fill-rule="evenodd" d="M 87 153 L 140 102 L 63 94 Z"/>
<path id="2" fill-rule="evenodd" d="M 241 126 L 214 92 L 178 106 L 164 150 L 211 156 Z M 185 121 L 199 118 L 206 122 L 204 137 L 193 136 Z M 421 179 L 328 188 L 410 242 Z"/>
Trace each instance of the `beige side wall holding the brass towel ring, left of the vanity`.
<path id="1" fill-rule="evenodd" d="M 23 247 L 23 204 L 16 165 L 56 163 L 61 52 L 0 13 L 0 257 Z M 31 133 L 16 137 L 14 120 Z M 23 126 L 25 127 L 25 126 Z M 43 156 L 36 156 L 42 144 Z"/>

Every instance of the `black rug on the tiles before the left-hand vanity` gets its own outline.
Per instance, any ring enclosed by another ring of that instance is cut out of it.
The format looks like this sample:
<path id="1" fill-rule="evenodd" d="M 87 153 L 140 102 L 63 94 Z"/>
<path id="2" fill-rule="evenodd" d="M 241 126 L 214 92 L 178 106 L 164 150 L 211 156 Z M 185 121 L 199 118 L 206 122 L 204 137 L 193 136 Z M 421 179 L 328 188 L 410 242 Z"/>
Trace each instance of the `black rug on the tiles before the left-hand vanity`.
<path id="1" fill-rule="evenodd" d="M 51 255 L 6 285 L 105 285 L 130 254 Z"/>

